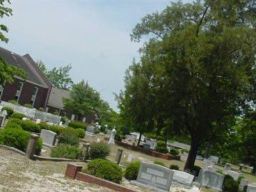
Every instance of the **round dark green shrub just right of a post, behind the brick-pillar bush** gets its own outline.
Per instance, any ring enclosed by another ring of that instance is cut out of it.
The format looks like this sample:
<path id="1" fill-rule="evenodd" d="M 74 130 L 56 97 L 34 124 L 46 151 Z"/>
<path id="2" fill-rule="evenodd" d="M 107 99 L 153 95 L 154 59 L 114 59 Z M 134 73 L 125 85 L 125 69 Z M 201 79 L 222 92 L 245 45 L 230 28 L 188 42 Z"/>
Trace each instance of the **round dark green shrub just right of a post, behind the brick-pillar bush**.
<path id="1" fill-rule="evenodd" d="M 99 142 L 99 143 L 92 143 L 90 147 L 90 156 L 91 159 L 104 159 L 110 153 L 110 148 L 107 143 Z"/>

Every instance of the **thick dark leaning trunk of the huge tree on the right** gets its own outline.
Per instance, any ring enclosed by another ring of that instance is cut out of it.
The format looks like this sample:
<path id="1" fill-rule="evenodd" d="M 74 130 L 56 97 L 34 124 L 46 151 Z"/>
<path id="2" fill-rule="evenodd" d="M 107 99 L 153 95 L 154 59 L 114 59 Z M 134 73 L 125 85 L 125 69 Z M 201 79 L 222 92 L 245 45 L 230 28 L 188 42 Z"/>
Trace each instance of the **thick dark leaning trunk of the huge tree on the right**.
<path id="1" fill-rule="evenodd" d="M 193 170 L 195 160 L 196 160 L 196 152 L 198 150 L 198 147 L 199 147 L 199 142 L 192 138 L 191 139 L 191 147 L 189 150 L 188 159 L 184 166 L 184 170 L 189 170 L 189 171 Z"/>

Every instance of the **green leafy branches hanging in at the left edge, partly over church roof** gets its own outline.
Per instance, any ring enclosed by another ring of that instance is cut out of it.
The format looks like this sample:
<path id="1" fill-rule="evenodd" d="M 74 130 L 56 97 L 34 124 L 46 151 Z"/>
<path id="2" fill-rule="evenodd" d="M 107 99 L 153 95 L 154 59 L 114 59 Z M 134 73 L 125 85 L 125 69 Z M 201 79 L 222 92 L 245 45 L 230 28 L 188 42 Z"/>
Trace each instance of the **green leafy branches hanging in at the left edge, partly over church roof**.
<path id="1" fill-rule="evenodd" d="M 7 3 L 10 3 L 10 1 L 6 1 Z M 4 16 L 10 16 L 12 15 L 12 9 L 4 6 L 4 0 L 0 0 L 0 19 Z M 8 42 L 8 38 L 4 36 L 3 32 L 7 33 L 8 28 L 4 24 L 0 24 L 0 44 L 1 42 Z M 26 79 L 27 74 L 24 72 L 24 70 L 14 67 L 13 65 L 8 65 L 6 61 L 3 60 L 0 56 L 0 86 L 4 86 L 4 83 L 13 83 L 14 76 L 22 77 L 23 79 Z"/>

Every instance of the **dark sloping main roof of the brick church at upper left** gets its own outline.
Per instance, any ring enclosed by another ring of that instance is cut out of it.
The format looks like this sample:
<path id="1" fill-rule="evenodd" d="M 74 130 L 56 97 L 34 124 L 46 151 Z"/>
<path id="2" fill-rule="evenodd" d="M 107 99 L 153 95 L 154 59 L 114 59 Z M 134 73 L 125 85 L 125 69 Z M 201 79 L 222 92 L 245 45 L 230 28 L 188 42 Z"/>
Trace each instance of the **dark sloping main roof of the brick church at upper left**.
<path id="1" fill-rule="evenodd" d="M 35 61 L 33 61 L 33 59 L 29 56 L 29 54 L 20 56 L 15 52 L 8 51 L 7 49 L 0 47 L 0 56 L 9 65 L 22 68 L 25 72 L 27 72 L 28 73 L 27 81 L 29 81 L 30 83 L 34 83 L 39 86 L 43 86 L 45 88 L 51 87 L 51 83 L 44 76 L 41 70 L 36 66 Z"/>

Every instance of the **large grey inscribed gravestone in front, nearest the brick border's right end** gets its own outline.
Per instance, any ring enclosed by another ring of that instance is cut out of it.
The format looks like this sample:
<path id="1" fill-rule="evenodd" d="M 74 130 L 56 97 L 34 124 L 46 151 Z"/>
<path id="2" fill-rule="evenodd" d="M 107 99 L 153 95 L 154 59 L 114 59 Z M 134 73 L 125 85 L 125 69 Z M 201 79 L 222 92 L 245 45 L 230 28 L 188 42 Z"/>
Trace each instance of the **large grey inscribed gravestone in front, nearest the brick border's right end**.
<path id="1" fill-rule="evenodd" d="M 146 188 L 156 189 L 157 191 L 170 191 L 172 179 L 173 170 L 158 164 L 142 162 L 137 179 L 132 180 L 131 183 Z"/>

